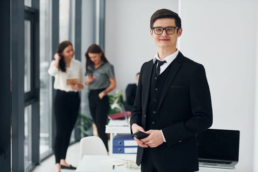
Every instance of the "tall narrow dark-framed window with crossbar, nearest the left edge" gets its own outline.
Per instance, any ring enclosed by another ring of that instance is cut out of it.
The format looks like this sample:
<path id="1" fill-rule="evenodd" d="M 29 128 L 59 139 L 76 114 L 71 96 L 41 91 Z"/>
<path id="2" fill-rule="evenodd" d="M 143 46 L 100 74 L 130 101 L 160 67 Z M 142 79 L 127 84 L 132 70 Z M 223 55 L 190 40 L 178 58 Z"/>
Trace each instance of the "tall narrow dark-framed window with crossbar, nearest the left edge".
<path id="1" fill-rule="evenodd" d="M 37 6 L 37 2 L 34 5 Z M 39 6 L 39 4 L 38 4 Z M 24 171 L 39 162 L 39 29 L 37 8 L 24 6 Z M 23 83 L 21 83 L 23 84 Z"/>

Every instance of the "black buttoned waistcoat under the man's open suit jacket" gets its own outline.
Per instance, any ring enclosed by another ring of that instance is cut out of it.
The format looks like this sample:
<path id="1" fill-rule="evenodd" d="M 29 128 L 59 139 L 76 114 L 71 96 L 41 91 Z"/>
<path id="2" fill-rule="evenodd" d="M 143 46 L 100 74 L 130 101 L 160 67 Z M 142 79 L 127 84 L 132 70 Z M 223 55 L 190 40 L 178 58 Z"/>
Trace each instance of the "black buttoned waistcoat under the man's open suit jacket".
<path id="1" fill-rule="evenodd" d="M 173 61 L 172 61 L 173 63 Z M 159 77 L 156 76 L 156 66 L 157 61 L 155 62 L 152 74 L 151 74 L 151 81 L 150 81 L 150 89 L 149 89 L 149 99 L 148 99 L 148 112 L 146 115 L 146 128 L 145 131 L 150 129 L 160 129 L 157 122 L 157 116 L 159 112 L 157 111 L 160 98 L 168 78 L 172 63 L 163 71 Z"/>

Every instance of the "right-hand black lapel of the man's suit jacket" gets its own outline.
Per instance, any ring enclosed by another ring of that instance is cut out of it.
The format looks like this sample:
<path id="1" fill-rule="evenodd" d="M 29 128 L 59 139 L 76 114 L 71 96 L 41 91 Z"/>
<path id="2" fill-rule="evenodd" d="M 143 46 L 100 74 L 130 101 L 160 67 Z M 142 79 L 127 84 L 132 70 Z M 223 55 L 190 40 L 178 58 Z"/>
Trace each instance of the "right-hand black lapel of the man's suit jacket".
<path id="1" fill-rule="evenodd" d="M 168 78 L 166 80 L 164 89 L 162 91 L 162 95 L 161 95 L 161 98 L 160 98 L 160 103 L 159 103 L 159 106 L 158 106 L 158 110 L 159 110 L 165 96 L 167 95 L 167 92 L 170 89 L 170 86 L 172 85 L 172 82 L 173 82 L 173 79 L 174 79 L 175 75 L 177 74 L 178 70 L 180 69 L 180 67 L 182 65 L 181 64 L 182 61 L 183 61 L 183 55 L 179 52 L 178 55 L 176 56 L 176 58 L 174 59 L 174 62 L 172 63 L 172 66 L 170 68 Z"/>

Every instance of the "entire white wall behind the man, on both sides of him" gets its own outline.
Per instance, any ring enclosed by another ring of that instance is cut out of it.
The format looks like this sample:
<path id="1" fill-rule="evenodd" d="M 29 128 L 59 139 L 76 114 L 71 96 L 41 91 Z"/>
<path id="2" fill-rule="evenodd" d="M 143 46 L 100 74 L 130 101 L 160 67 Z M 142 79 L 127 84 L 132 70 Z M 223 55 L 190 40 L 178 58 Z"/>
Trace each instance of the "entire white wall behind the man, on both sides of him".
<path id="1" fill-rule="evenodd" d="M 179 4 L 178 9 L 178 0 L 106 0 L 105 50 L 115 66 L 117 88 L 124 90 L 133 83 L 143 62 L 157 51 L 149 34 L 151 14 L 160 8 L 180 11 L 180 51 L 206 69 L 214 114 L 212 128 L 240 130 L 236 168 L 252 172 L 253 165 L 258 169 L 252 162 L 257 0 L 179 0 Z"/>

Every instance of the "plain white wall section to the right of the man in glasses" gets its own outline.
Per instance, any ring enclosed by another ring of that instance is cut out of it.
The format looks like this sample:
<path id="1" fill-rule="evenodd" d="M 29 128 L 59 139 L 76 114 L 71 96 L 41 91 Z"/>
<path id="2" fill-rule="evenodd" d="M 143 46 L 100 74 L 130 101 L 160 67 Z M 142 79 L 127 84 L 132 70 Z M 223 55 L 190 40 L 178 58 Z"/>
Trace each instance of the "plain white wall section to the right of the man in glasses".
<path id="1" fill-rule="evenodd" d="M 252 172 L 257 0 L 181 0 L 181 51 L 204 64 L 212 128 L 240 130 L 239 172 Z"/>

